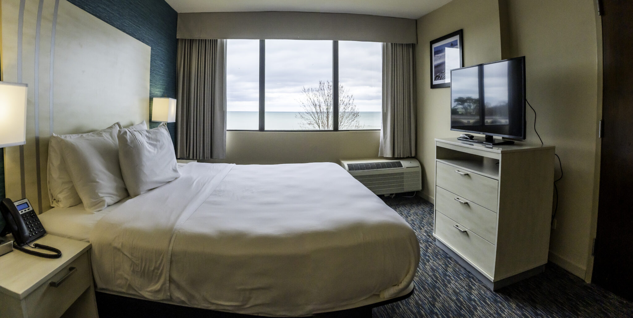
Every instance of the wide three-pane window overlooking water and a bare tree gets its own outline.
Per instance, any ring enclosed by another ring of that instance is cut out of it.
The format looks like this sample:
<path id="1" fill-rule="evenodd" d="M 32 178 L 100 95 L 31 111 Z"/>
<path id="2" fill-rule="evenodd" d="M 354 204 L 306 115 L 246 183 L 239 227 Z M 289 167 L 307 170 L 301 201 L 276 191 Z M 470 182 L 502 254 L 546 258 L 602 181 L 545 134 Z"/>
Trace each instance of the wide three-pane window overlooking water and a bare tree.
<path id="1" fill-rule="evenodd" d="M 227 41 L 229 130 L 377 130 L 381 109 L 380 43 Z"/>

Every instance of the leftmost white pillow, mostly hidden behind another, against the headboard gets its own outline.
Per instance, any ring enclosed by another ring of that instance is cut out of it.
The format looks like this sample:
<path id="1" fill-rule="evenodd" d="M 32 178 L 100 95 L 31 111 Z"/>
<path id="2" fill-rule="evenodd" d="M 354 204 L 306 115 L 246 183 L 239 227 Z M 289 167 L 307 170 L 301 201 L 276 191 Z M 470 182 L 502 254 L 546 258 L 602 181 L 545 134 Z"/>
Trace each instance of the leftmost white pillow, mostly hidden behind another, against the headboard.
<path id="1" fill-rule="evenodd" d="M 145 123 L 145 121 L 143 121 Z M 140 125 L 140 124 L 139 124 Z M 104 130 L 112 130 L 114 128 L 120 128 L 119 123 L 115 123 L 112 126 Z M 48 170 L 47 170 L 47 183 L 48 183 L 48 197 L 53 207 L 72 207 L 81 203 L 73 181 L 70 179 L 66 162 L 64 161 L 63 150 L 61 149 L 61 140 L 73 139 L 84 135 L 91 135 L 97 133 L 77 133 L 72 135 L 56 135 L 53 133 L 51 139 L 48 142 Z"/>

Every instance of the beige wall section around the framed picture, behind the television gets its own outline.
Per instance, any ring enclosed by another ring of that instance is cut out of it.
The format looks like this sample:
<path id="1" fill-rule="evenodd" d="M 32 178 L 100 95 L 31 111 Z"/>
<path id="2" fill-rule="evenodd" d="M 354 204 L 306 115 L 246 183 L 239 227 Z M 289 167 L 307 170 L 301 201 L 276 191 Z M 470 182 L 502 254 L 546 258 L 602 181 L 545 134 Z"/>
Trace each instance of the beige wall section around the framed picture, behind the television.
<path id="1" fill-rule="evenodd" d="M 450 130 L 451 89 L 430 89 L 429 42 L 463 29 L 464 66 L 501 59 L 498 0 L 453 0 L 418 19 L 416 73 L 418 85 L 417 158 L 423 167 L 422 196 L 434 202 L 435 138 L 457 137 Z"/>

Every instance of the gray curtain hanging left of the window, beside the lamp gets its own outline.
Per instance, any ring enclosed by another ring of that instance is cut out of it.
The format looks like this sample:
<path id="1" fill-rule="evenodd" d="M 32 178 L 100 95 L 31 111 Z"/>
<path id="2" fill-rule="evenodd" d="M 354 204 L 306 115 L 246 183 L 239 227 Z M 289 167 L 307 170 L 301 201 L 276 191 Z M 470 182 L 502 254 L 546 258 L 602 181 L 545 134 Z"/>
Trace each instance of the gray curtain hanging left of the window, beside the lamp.
<path id="1" fill-rule="evenodd" d="M 178 39 L 179 158 L 226 157 L 226 44 L 226 40 Z"/>

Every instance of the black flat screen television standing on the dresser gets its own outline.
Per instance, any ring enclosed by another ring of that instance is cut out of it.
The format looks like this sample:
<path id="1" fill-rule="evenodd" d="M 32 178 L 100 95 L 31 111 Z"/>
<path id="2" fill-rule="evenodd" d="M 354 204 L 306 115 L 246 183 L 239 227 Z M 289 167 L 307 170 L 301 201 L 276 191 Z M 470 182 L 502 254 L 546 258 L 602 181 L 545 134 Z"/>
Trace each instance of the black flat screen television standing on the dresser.
<path id="1" fill-rule="evenodd" d="M 451 70 L 451 130 L 482 134 L 470 142 L 525 139 L 525 56 Z"/>

